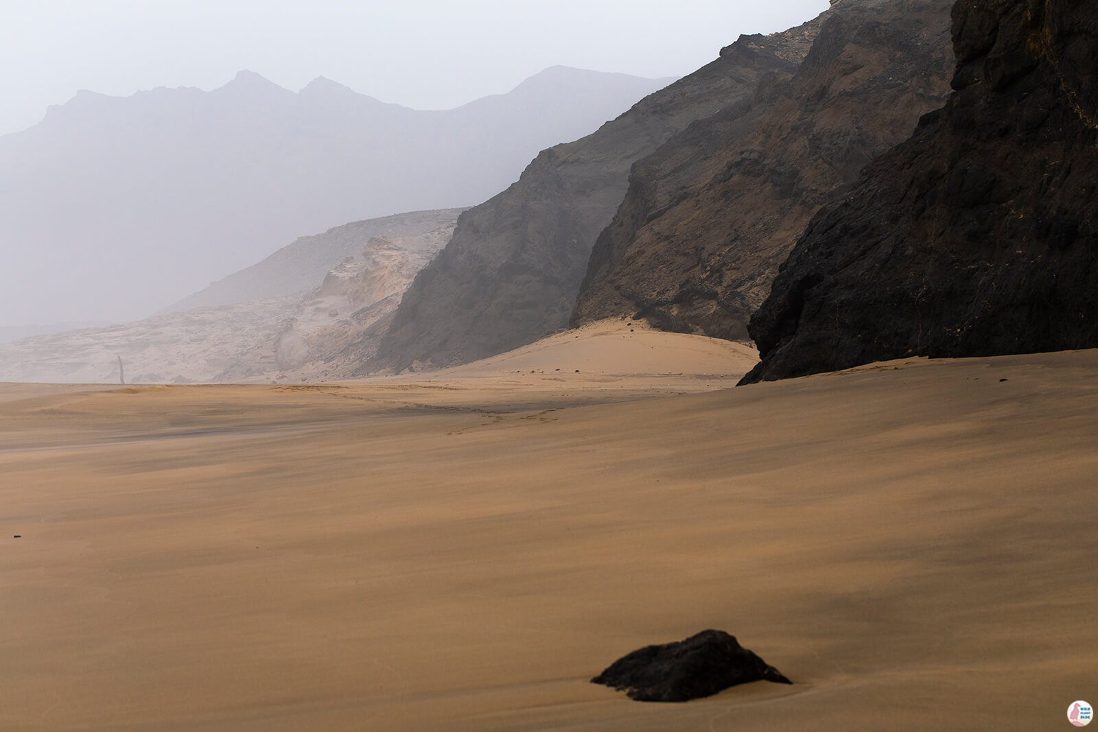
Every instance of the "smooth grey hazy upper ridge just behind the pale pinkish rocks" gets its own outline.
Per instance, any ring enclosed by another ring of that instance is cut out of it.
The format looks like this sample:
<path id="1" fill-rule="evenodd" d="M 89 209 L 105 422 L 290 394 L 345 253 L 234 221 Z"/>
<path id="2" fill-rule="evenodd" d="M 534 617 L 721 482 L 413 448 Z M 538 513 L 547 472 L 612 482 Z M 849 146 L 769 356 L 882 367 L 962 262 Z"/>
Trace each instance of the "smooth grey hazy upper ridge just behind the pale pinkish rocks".
<path id="1" fill-rule="evenodd" d="M 348 257 L 360 255 L 363 241 L 369 243 L 374 236 L 392 239 L 427 234 L 457 221 L 462 211 L 464 210 L 413 211 L 352 222 L 329 228 L 324 234 L 300 237 L 262 261 L 211 283 L 163 312 L 233 305 L 306 292 Z"/>

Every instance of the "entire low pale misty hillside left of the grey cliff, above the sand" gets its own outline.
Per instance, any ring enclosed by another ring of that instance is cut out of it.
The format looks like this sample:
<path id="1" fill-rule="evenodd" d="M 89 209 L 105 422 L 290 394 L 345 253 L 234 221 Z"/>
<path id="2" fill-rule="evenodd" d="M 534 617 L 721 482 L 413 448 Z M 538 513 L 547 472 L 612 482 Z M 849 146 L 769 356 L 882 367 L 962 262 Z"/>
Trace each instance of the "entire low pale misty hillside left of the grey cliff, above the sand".
<path id="1" fill-rule="evenodd" d="M 372 353 L 412 278 L 450 239 L 456 214 L 422 211 L 303 237 L 238 273 L 248 275 L 238 282 L 225 280 L 240 288 L 213 292 L 260 293 L 247 302 L 211 300 L 132 323 L 0 344 L 0 381 L 117 383 L 120 357 L 127 383 L 349 378 Z M 295 286 L 290 274 L 301 280 L 333 259 L 330 271 L 287 292 Z"/>

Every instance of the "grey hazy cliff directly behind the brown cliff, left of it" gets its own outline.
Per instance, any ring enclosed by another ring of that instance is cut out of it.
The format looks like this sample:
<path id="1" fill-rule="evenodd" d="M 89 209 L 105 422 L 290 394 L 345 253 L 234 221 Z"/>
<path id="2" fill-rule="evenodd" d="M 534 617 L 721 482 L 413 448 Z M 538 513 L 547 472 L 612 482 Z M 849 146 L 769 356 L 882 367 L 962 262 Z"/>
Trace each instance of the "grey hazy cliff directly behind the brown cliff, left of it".
<path id="1" fill-rule="evenodd" d="M 744 36 L 596 133 L 544 150 L 519 180 L 462 214 L 453 239 L 405 294 L 376 367 L 445 367 L 565 328 L 598 232 L 629 167 L 694 120 L 796 70 L 818 23 Z"/>

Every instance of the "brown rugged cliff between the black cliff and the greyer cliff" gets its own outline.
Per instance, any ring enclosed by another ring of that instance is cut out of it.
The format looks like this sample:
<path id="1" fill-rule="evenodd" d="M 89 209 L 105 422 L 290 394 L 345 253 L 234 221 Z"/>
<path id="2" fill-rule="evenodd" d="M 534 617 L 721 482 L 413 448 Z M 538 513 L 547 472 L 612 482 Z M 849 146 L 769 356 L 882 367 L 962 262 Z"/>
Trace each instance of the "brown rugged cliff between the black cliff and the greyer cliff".
<path id="1" fill-rule="evenodd" d="M 941 106 L 952 0 L 842 0 L 795 77 L 691 125 L 634 168 L 572 325 L 645 318 L 747 340 L 811 216 Z"/>

